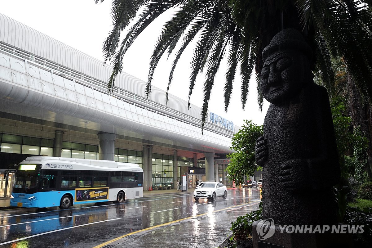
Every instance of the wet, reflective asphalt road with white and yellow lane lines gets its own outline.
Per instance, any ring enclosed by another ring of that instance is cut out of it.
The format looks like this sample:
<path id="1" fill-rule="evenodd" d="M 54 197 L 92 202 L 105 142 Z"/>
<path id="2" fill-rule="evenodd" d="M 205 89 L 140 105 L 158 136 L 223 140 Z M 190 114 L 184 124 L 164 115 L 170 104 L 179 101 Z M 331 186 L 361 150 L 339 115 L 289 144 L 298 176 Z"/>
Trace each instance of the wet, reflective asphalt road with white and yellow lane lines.
<path id="1" fill-rule="evenodd" d="M 259 194 L 234 189 L 226 200 L 195 201 L 190 192 L 68 210 L 0 211 L 0 247 L 218 247 L 237 216 L 258 208 Z"/>

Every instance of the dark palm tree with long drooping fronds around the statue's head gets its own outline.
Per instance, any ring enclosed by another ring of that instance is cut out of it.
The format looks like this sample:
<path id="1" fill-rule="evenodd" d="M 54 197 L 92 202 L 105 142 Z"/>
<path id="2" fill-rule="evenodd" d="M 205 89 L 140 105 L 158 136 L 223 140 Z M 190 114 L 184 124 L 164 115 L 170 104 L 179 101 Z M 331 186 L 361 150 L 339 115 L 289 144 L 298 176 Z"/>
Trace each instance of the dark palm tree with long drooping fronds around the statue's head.
<path id="1" fill-rule="evenodd" d="M 283 28 L 301 31 L 311 45 L 315 55 L 312 69 L 322 77 L 330 97 L 335 93 L 331 59 L 342 57 L 356 87 L 371 101 L 371 7 L 371 0 L 113 0 L 113 29 L 103 44 L 105 63 L 113 63 L 108 89 L 114 87 L 116 75 L 122 71 L 123 57 L 138 35 L 158 16 L 171 9 L 172 15 L 164 23 L 150 58 L 145 91 L 149 96 L 155 68 L 164 53 L 175 55 L 169 74 L 169 89 L 180 56 L 196 38 L 190 64 L 189 101 L 196 76 L 205 71 L 202 128 L 215 76 L 224 59 L 228 64 L 225 110 L 238 68 L 242 78 L 243 109 L 253 69 L 259 92 L 257 100 L 262 109 L 263 97 L 259 90 L 259 73 L 263 66 L 261 54 L 272 37 Z M 128 25 L 131 27 L 119 45 L 120 34 Z M 179 48 L 176 50 L 176 47 Z"/>

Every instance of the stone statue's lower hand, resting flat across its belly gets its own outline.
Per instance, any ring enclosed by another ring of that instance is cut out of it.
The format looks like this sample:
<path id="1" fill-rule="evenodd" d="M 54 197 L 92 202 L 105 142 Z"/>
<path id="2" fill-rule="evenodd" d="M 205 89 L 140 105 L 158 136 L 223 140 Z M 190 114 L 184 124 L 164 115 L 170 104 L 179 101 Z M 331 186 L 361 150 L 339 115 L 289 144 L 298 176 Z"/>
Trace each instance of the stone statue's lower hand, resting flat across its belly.
<path id="1" fill-rule="evenodd" d="M 307 162 L 303 159 L 287 160 L 280 165 L 279 180 L 290 192 L 301 191 L 308 186 Z"/>

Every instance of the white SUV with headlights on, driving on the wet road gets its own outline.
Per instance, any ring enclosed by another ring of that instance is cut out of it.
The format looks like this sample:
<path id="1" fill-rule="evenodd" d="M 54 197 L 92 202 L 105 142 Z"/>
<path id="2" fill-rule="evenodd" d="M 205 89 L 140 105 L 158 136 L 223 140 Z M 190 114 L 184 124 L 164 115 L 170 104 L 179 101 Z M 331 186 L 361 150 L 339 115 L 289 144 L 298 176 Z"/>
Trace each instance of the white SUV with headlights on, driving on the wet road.
<path id="1" fill-rule="evenodd" d="M 214 201 L 217 196 L 222 196 L 224 199 L 227 197 L 227 188 L 221 182 L 204 182 L 203 185 L 194 190 L 195 200 L 209 198 Z"/>

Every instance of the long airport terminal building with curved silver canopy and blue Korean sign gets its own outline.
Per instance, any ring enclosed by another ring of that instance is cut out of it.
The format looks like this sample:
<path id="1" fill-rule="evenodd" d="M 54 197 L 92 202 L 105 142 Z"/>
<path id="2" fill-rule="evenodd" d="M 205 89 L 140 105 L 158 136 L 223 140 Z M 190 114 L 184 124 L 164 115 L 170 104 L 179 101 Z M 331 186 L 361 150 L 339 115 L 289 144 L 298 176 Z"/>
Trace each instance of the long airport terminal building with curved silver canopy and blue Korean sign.
<path id="1" fill-rule="evenodd" d="M 144 190 L 225 181 L 239 127 L 0 13 L 0 197 L 28 156 L 115 160 L 144 170 Z M 8 183 L 9 182 L 9 183 Z"/>

